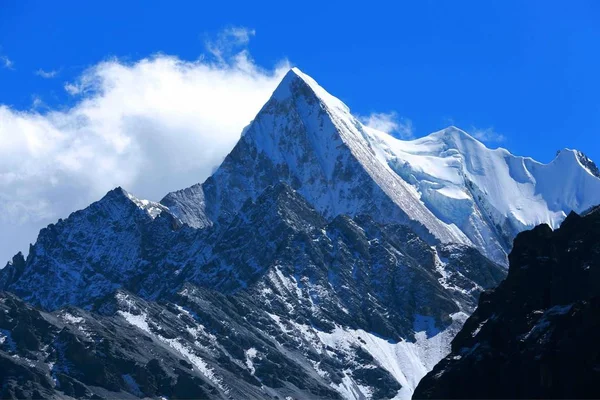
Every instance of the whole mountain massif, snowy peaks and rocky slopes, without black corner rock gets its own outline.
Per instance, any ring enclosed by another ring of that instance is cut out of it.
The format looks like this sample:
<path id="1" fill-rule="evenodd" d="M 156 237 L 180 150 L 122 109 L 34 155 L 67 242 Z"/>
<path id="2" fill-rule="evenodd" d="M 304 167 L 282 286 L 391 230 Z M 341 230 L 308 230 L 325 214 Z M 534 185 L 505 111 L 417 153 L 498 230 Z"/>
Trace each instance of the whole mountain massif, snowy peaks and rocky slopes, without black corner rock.
<path id="1" fill-rule="evenodd" d="M 1 395 L 408 399 L 594 167 L 397 140 L 294 68 L 204 183 L 114 189 L 0 270 Z"/>

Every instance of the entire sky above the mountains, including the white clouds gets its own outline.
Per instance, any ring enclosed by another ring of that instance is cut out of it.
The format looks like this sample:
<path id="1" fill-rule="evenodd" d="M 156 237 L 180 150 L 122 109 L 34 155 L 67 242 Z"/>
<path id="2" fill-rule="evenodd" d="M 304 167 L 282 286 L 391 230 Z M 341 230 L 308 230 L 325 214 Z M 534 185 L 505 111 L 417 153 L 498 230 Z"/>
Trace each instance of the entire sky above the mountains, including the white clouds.
<path id="1" fill-rule="evenodd" d="M 221 3 L 0 0 L 0 263 L 114 186 L 204 180 L 289 66 L 398 135 L 600 160 L 599 2 Z"/>

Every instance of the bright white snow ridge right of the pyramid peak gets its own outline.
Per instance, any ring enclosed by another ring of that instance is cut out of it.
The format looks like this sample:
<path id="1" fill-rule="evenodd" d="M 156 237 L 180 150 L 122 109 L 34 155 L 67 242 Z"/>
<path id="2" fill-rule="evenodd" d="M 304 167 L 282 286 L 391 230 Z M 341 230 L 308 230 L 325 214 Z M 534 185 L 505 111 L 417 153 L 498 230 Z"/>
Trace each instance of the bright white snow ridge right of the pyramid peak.
<path id="1" fill-rule="evenodd" d="M 420 200 L 496 261 L 520 231 L 541 223 L 557 228 L 570 211 L 600 203 L 595 165 L 575 150 L 541 164 L 488 149 L 455 127 L 413 141 L 368 132 L 380 159 L 418 190 Z"/>

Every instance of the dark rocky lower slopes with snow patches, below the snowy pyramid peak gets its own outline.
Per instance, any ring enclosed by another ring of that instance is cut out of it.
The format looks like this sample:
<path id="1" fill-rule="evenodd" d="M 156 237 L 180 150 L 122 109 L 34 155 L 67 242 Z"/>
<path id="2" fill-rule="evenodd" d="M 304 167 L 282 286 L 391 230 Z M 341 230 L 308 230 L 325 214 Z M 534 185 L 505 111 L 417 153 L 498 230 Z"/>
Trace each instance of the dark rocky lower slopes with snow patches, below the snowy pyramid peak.
<path id="1" fill-rule="evenodd" d="M 229 224 L 175 222 L 110 193 L 0 272 L 46 310 L 0 297 L 6 397 L 408 398 L 504 277 L 402 225 L 327 220 L 285 184 Z"/>

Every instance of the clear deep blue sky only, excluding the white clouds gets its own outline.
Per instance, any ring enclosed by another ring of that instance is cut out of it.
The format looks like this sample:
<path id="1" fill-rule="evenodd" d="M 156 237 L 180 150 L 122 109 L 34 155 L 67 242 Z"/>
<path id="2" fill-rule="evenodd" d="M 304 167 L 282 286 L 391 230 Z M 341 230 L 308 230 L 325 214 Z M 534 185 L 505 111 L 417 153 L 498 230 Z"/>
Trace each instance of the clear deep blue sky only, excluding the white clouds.
<path id="1" fill-rule="evenodd" d="M 543 162 L 562 147 L 600 159 L 598 2 L 175 3 L 3 0 L 13 69 L 0 70 L 0 102 L 61 107 L 64 82 L 101 60 L 194 60 L 207 36 L 244 26 L 258 65 L 287 58 L 354 112 L 395 111 L 417 136 L 493 128 L 505 140 L 492 145 Z"/>

